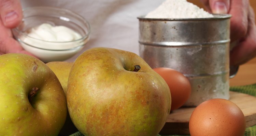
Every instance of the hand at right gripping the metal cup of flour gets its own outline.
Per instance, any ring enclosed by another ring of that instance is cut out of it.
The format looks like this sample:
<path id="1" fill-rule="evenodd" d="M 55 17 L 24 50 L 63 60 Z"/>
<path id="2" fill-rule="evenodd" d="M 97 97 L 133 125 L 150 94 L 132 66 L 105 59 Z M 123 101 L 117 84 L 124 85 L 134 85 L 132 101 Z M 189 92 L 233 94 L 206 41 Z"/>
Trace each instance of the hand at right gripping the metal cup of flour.
<path id="1" fill-rule="evenodd" d="M 256 56 L 255 15 L 249 0 L 201 0 L 208 12 L 231 14 L 230 65 L 239 66 Z"/>

